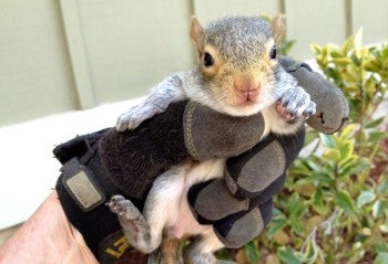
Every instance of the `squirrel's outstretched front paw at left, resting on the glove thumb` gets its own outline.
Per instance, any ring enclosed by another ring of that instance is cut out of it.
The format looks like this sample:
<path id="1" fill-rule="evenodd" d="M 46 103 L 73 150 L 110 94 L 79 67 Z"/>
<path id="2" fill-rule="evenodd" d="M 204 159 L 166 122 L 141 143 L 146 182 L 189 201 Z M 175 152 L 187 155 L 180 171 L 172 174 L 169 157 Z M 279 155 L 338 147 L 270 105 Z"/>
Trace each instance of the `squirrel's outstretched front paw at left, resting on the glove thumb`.
<path id="1" fill-rule="evenodd" d="M 153 117 L 161 113 L 162 109 L 154 105 L 141 104 L 132 107 L 129 112 L 122 114 L 118 118 L 116 129 L 118 131 L 125 131 L 135 129 L 145 119 Z"/>

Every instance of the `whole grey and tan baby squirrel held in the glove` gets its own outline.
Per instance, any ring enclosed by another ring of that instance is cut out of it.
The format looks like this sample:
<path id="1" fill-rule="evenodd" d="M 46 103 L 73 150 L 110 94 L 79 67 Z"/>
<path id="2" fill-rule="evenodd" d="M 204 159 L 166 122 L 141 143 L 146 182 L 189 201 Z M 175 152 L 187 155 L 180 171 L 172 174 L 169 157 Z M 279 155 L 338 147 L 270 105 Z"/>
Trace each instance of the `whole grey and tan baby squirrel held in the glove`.
<path id="1" fill-rule="evenodd" d="M 116 129 L 137 127 L 163 113 L 172 102 L 190 98 L 214 110 L 248 116 L 262 113 L 268 133 L 293 134 L 316 110 L 309 94 L 276 60 L 276 42 L 284 33 L 282 17 L 270 23 L 259 18 L 225 18 L 204 29 L 193 17 L 190 36 L 198 64 L 169 76 L 140 105 L 120 116 Z M 129 242 L 144 253 L 156 250 L 163 232 L 173 237 L 198 235 L 188 250 L 190 263 L 221 263 L 213 253 L 224 245 L 211 225 L 200 225 L 186 200 L 191 186 L 223 176 L 224 159 L 177 165 L 155 180 L 143 214 L 121 196 L 109 202 Z M 224 263 L 224 262 L 223 262 Z"/>

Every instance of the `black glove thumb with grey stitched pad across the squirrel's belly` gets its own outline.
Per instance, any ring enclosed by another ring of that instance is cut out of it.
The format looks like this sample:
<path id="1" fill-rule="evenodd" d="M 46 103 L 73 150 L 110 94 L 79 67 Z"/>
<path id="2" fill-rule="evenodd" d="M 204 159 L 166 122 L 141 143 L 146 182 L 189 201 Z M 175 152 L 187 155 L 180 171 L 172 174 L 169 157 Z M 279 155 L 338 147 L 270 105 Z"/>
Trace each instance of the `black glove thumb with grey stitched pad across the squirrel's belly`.
<path id="1" fill-rule="evenodd" d="M 99 155 L 123 193 L 144 199 L 155 178 L 171 166 L 186 159 L 237 156 L 257 144 L 263 128 L 261 114 L 232 117 L 184 101 L 134 130 L 108 130 Z"/>

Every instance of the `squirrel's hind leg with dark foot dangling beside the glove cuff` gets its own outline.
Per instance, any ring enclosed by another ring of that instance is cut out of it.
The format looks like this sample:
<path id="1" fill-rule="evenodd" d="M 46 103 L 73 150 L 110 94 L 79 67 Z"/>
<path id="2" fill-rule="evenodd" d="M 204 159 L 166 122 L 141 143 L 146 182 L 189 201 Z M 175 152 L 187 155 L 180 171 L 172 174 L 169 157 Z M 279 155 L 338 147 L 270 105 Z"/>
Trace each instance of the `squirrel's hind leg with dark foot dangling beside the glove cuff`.
<path id="1" fill-rule="evenodd" d="M 108 202 L 118 214 L 129 243 L 143 253 L 155 251 L 163 230 L 177 219 L 178 202 L 184 189 L 184 175 L 190 162 L 172 167 L 156 178 L 145 200 L 143 214 L 122 196 L 114 196 Z"/>

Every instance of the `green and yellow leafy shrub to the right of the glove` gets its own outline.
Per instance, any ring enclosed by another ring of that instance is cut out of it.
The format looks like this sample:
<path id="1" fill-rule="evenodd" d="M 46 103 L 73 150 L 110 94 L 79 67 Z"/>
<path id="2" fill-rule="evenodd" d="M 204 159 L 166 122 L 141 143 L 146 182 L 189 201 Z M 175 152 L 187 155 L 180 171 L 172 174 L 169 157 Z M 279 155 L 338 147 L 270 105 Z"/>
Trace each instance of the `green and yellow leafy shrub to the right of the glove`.
<path id="1" fill-rule="evenodd" d="M 307 154 L 289 169 L 273 221 L 244 249 L 227 252 L 238 263 L 388 264 L 388 133 L 380 109 L 388 44 L 363 46 L 361 35 L 341 46 L 312 45 L 323 74 L 348 99 L 349 120 L 334 135 L 308 130 Z"/>

